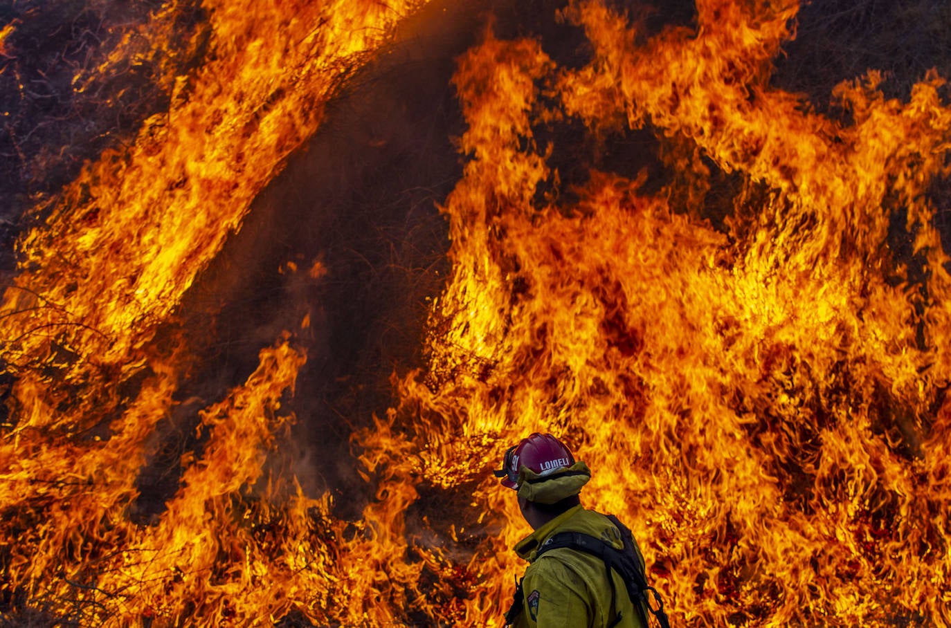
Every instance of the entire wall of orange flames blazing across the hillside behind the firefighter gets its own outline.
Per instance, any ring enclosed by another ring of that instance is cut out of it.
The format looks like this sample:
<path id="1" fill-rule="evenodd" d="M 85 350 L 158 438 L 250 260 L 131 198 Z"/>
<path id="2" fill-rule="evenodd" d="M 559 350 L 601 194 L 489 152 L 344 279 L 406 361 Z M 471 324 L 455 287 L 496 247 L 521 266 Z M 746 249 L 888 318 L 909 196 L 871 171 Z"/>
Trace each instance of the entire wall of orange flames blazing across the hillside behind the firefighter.
<path id="1" fill-rule="evenodd" d="M 174 497 L 131 517 L 198 360 L 174 325 L 184 294 L 421 3 L 204 4 L 204 67 L 169 76 L 169 111 L 19 242 L 0 316 L 7 617 L 501 625 L 528 530 L 488 471 L 542 430 L 592 467 L 586 504 L 631 525 L 678 624 L 951 621 L 951 276 L 932 194 L 951 109 L 937 76 L 899 102 L 870 72 L 835 92 L 847 122 L 810 112 L 769 83 L 788 3 L 701 0 L 693 27 L 652 36 L 575 3 L 580 67 L 488 29 L 456 61 L 464 171 L 440 208 L 452 274 L 426 360 L 353 434 L 376 495 L 362 517 L 275 463 L 300 330 L 198 413 Z M 664 175 L 592 166 L 563 185 L 552 129 L 571 124 L 595 152 L 650 132 Z M 735 175 L 726 201 L 714 170 Z"/>

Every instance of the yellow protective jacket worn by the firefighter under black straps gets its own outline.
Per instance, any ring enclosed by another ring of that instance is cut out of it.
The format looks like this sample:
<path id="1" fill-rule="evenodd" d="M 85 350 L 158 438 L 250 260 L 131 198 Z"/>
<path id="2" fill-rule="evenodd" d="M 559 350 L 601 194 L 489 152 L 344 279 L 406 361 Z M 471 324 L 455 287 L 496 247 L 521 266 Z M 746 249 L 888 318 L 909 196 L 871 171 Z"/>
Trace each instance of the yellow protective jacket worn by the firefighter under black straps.
<path id="1" fill-rule="evenodd" d="M 624 548 L 620 532 L 602 514 L 581 505 L 558 515 L 515 545 L 529 561 L 522 580 L 524 604 L 514 628 L 647 628 L 634 609 L 624 580 L 611 571 L 613 589 L 604 561 L 569 547 L 549 550 L 535 560 L 537 549 L 558 532 L 584 532 Z M 641 565 L 644 557 L 636 541 Z M 620 613 L 620 620 L 613 623 Z"/>

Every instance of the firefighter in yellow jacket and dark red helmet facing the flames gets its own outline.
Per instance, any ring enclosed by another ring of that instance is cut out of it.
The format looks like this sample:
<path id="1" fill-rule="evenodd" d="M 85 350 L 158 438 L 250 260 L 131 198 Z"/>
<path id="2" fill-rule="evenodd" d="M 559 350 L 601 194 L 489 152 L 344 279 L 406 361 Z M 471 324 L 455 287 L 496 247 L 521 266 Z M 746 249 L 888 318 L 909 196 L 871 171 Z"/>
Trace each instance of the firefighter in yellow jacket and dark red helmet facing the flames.
<path id="1" fill-rule="evenodd" d="M 606 568 L 604 559 L 571 543 L 564 546 L 562 541 L 572 535 L 561 534 L 554 544 L 562 546 L 545 548 L 562 532 L 581 532 L 618 551 L 625 548 L 622 531 L 611 519 L 581 505 L 578 493 L 591 479 L 588 466 L 575 462 L 571 450 L 553 435 L 535 432 L 505 452 L 495 476 L 516 491 L 518 508 L 534 529 L 514 547 L 529 565 L 506 613 L 506 625 L 647 628 L 649 605 L 631 601 L 624 577 Z M 621 528 L 630 535 L 623 524 Z M 643 574 L 640 548 L 632 538 L 628 547 Z"/>

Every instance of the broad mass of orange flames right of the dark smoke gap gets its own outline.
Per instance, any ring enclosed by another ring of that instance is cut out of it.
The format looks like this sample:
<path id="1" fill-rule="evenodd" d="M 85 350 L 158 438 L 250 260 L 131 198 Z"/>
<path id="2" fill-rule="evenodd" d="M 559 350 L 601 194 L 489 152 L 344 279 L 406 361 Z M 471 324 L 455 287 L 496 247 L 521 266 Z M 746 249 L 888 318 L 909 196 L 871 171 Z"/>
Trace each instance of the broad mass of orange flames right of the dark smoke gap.
<path id="1" fill-rule="evenodd" d="M 454 276 L 428 371 L 401 389 L 400 425 L 430 434 L 415 437 L 423 477 L 478 481 L 475 511 L 517 521 L 484 469 L 551 429 L 594 469 L 589 503 L 644 541 L 676 622 L 943 621 L 928 584 L 948 577 L 934 515 L 949 286 L 927 196 L 947 175 L 940 81 L 904 105 L 874 73 L 844 84 L 853 123 L 837 124 L 768 85 L 794 7 L 701 2 L 696 30 L 644 46 L 597 2 L 567 15 L 592 41 L 587 67 L 492 36 L 460 60 Z M 673 153 L 685 177 L 708 171 L 701 155 L 742 173 L 725 230 L 643 178 L 594 172 L 577 203 L 539 200 L 557 146 L 538 149 L 534 125 L 565 115 L 601 137 L 650 123 L 692 147 Z M 889 248 L 902 209 L 923 280 Z M 470 569 L 517 572 L 516 527 Z M 504 587 L 477 591 L 467 618 L 491 617 Z"/>

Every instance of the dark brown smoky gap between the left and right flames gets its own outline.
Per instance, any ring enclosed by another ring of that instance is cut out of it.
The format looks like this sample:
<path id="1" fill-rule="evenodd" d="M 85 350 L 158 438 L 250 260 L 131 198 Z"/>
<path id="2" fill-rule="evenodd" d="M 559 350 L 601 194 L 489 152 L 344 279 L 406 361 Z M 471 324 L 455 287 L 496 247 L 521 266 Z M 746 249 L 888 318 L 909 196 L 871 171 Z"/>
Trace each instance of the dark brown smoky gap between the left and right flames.
<path id="1" fill-rule="evenodd" d="M 391 375 L 420 365 L 428 304 L 449 270 L 438 205 L 461 173 L 462 130 L 450 77 L 484 9 L 437 4 L 401 26 L 255 200 L 176 322 L 201 356 L 184 397 L 221 398 L 262 346 L 293 334 L 307 355 L 287 400 L 297 423 L 270 465 L 307 494 L 340 496 L 344 518 L 359 518 L 373 491 L 350 436 L 393 404 Z"/>

